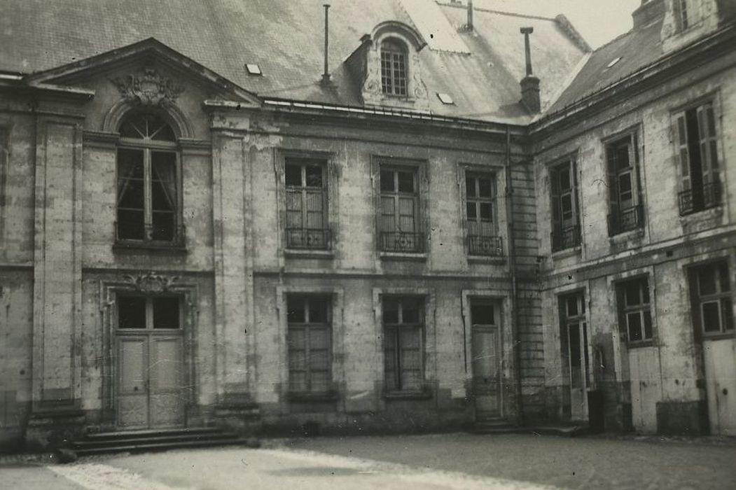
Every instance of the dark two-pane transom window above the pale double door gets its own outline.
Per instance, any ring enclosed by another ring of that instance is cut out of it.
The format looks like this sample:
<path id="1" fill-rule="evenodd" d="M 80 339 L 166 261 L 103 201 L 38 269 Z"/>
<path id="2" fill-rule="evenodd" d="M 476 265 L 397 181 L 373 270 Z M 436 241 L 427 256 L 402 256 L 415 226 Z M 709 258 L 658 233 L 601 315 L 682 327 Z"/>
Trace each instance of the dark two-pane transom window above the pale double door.
<path id="1" fill-rule="evenodd" d="M 179 329 L 181 299 L 177 296 L 118 294 L 118 328 Z"/>

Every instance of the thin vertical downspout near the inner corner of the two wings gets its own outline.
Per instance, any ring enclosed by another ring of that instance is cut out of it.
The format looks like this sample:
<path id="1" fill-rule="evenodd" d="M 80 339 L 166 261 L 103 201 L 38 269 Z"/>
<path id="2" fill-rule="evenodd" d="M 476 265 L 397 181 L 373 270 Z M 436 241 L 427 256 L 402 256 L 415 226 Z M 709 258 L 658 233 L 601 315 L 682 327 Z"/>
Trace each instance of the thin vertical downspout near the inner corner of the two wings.
<path id="1" fill-rule="evenodd" d="M 516 279 L 516 246 L 514 245 L 514 185 L 511 177 L 511 132 L 506 127 L 506 236 L 509 242 L 509 278 L 511 279 L 511 330 L 514 342 L 514 377 L 516 382 L 517 424 L 523 425 L 521 402 L 521 349 L 519 341 L 519 298 Z"/>

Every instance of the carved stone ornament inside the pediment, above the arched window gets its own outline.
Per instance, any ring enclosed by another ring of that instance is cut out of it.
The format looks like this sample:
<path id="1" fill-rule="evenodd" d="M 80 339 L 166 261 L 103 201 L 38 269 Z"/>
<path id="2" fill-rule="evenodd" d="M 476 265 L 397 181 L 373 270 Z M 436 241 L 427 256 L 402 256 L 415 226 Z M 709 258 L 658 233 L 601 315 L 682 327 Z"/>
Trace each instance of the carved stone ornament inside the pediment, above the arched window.
<path id="1" fill-rule="evenodd" d="M 110 79 L 110 82 L 120 90 L 123 99 L 148 106 L 171 104 L 184 91 L 184 85 L 162 77 L 154 68 L 143 68 L 127 77 Z"/>

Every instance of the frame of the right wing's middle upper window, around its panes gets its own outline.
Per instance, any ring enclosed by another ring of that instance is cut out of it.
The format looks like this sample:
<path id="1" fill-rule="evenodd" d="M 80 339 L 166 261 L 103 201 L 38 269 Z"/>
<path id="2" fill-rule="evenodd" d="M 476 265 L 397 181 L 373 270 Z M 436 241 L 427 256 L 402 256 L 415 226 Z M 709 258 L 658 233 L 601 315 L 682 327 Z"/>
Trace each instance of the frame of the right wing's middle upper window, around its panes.
<path id="1" fill-rule="evenodd" d="M 618 168 L 617 149 L 628 146 L 627 155 L 629 166 Z M 637 132 L 616 135 L 604 141 L 605 166 L 608 176 L 609 190 L 609 236 L 620 235 L 643 228 L 643 185 L 640 173 L 639 138 Z M 620 182 L 623 175 L 629 175 L 631 199 L 629 205 L 623 207 L 620 191 Z"/>

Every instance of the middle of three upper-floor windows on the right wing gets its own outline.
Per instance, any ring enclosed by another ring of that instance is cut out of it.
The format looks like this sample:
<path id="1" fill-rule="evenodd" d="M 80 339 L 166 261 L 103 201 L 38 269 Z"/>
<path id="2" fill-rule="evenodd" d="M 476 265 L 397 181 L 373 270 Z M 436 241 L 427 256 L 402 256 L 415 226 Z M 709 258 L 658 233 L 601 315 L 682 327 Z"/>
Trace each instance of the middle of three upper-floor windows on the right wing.
<path id="1" fill-rule="evenodd" d="M 643 225 L 636 136 L 629 135 L 607 144 L 606 160 L 610 199 L 609 235 L 616 235 Z"/>

